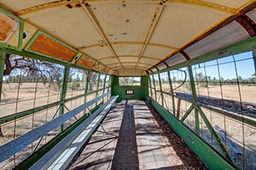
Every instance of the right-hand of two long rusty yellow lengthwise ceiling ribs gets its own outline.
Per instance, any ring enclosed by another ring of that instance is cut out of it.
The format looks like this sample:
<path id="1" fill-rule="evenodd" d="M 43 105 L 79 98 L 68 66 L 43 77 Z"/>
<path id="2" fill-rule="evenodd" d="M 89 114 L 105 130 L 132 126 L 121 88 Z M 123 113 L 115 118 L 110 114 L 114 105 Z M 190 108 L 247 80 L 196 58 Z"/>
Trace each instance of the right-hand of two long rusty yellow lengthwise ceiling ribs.
<path id="1" fill-rule="evenodd" d="M 141 52 L 139 53 L 139 57 L 138 57 L 138 61 L 137 61 L 137 65 L 138 66 L 138 63 L 141 61 L 142 59 L 142 56 L 146 50 L 146 45 L 148 45 L 148 43 L 150 42 L 150 38 L 154 32 L 154 29 L 155 27 L 157 26 L 157 23 L 158 23 L 158 20 L 162 14 L 162 10 L 164 9 L 165 5 L 164 3 L 160 3 L 158 4 L 156 10 L 154 11 L 154 17 L 151 21 L 151 24 L 150 24 L 150 28 L 149 30 L 147 31 L 147 34 L 146 34 L 146 38 L 145 38 L 145 41 L 144 41 L 144 45 L 142 45 L 142 49 L 141 49 Z"/>

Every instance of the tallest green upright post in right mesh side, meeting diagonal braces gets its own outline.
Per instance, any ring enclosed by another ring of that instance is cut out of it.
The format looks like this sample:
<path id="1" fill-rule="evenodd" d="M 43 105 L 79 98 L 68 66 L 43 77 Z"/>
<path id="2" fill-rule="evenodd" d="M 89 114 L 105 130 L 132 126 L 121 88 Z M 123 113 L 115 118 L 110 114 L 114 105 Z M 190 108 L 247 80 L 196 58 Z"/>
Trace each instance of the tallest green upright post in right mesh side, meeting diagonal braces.
<path id="1" fill-rule="evenodd" d="M 192 96 L 193 96 L 193 104 L 194 106 L 197 105 L 198 103 L 198 98 L 197 98 L 197 93 L 194 85 L 194 76 L 193 76 L 193 71 L 191 65 L 188 65 L 188 71 L 190 75 L 190 85 L 191 85 L 191 90 L 192 90 Z M 198 115 L 198 109 L 197 107 L 194 107 L 194 123 L 195 123 L 195 132 L 197 135 L 200 135 L 200 127 L 199 127 L 199 115 Z"/>

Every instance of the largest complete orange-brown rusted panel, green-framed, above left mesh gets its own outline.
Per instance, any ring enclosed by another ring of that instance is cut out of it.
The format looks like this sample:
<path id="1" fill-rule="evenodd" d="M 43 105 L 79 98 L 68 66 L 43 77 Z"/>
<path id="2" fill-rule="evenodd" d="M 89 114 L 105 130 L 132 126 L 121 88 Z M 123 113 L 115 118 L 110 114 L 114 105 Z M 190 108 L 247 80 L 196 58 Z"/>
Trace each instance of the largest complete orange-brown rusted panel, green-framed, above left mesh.
<path id="1" fill-rule="evenodd" d="M 30 45 L 29 49 L 38 53 L 46 54 L 50 57 L 57 57 L 64 61 L 71 61 L 77 53 L 76 51 L 46 37 L 44 34 L 38 34 L 38 37 Z"/>

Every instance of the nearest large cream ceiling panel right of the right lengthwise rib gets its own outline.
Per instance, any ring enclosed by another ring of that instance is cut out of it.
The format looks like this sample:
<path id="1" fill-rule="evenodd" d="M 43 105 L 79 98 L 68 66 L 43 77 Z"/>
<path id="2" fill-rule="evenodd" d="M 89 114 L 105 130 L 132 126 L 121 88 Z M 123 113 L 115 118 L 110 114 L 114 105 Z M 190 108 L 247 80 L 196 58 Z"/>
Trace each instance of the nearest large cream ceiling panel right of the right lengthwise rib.
<path id="1" fill-rule="evenodd" d="M 163 10 L 150 42 L 181 47 L 229 15 L 202 6 L 173 3 Z"/>

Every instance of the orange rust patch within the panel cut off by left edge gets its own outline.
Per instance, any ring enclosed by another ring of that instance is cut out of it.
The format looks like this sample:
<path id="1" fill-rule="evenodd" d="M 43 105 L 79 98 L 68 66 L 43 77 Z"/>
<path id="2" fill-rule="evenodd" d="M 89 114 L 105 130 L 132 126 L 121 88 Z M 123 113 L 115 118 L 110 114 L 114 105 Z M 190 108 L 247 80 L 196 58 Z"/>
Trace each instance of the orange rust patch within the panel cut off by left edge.
<path id="1" fill-rule="evenodd" d="M 0 41 L 5 42 L 6 38 L 12 34 L 15 27 L 15 20 L 3 14 L 0 14 Z"/>

